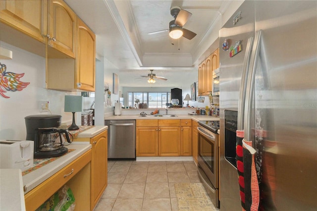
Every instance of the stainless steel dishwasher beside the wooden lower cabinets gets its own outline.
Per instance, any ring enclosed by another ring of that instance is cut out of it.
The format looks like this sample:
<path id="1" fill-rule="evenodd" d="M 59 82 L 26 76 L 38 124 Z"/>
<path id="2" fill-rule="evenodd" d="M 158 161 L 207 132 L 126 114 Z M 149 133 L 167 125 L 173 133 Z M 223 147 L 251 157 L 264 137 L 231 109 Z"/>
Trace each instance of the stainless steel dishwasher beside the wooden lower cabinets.
<path id="1" fill-rule="evenodd" d="M 105 120 L 108 126 L 108 159 L 135 160 L 135 120 Z"/>

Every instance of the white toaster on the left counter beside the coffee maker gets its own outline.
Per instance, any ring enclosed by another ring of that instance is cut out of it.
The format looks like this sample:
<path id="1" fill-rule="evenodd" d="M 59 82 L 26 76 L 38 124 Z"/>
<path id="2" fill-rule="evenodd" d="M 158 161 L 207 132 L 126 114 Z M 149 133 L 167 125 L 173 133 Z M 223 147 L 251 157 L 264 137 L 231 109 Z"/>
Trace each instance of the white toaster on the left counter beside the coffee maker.
<path id="1" fill-rule="evenodd" d="M 0 168 L 31 168 L 33 151 L 34 141 L 0 140 Z"/>

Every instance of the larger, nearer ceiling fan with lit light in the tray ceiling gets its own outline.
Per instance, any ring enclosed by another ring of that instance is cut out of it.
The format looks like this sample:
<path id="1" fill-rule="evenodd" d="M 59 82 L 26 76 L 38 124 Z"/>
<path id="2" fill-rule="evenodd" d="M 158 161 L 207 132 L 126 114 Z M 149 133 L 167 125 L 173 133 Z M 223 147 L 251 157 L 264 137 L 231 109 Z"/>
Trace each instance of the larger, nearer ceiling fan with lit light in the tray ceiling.
<path id="1" fill-rule="evenodd" d="M 196 33 L 183 28 L 185 23 L 191 17 L 192 13 L 184 9 L 181 9 L 179 6 L 173 6 L 170 8 L 170 14 L 174 17 L 174 20 L 169 22 L 169 29 L 149 32 L 148 34 L 153 35 L 169 31 L 169 36 L 173 39 L 178 39 L 183 36 L 188 40 L 193 39 L 197 35 Z"/>

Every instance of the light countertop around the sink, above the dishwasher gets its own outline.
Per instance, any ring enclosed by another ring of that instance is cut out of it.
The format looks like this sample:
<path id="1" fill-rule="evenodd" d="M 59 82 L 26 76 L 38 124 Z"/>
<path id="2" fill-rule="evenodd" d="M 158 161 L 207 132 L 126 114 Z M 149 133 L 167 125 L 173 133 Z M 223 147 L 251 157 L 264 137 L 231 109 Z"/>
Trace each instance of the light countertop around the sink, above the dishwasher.
<path id="1" fill-rule="evenodd" d="M 106 116 L 105 120 L 120 120 L 120 119 L 193 119 L 195 121 L 219 121 L 219 117 L 208 115 L 189 115 L 189 114 L 176 114 L 176 116 L 140 116 L 138 115 L 112 115 Z"/>

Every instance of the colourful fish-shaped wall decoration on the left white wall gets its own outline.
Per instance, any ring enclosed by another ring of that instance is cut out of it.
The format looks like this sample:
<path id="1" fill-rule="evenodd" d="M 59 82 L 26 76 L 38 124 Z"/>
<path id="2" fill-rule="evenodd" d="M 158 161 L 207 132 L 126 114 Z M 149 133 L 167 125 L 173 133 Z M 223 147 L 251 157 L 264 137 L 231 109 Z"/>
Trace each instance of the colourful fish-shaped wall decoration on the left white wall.
<path id="1" fill-rule="evenodd" d="M 10 98 L 4 95 L 6 91 L 22 91 L 26 88 L 30 83 L 20 81 L 23 76 L 24 73 L 6 72 L 6 65 L 0 63 L 0 95 L 3 98 Z"/>

